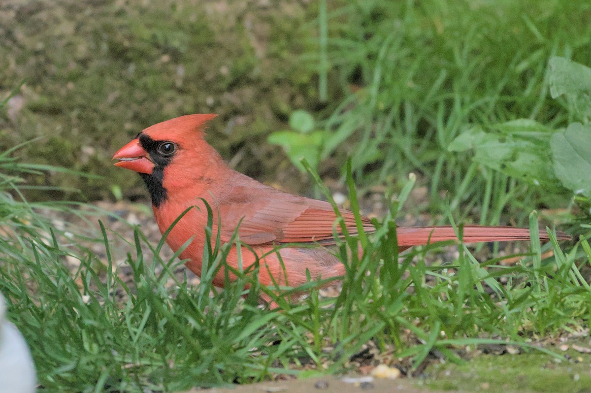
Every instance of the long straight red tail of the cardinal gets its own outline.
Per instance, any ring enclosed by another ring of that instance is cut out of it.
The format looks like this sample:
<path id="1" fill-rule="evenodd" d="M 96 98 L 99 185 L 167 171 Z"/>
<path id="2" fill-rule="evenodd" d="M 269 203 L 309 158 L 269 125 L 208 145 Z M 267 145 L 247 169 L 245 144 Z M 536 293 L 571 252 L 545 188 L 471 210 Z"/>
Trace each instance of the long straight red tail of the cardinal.
<path id="1" fill-rule="evenodd" d="M 404 248 L 457 239 L 451 226 L 399 227 L 397 236 L 398 245 Z M 557 232 L 556 237 L 558 240 L 570 239 L 569 235 L 561 232 Z M 540 230 L 540 239 L 549 240 L 545 230 Z M 462 240 L 465 243 L 530 240 L 530 230 L 511 226 L 466 225 Z"/>

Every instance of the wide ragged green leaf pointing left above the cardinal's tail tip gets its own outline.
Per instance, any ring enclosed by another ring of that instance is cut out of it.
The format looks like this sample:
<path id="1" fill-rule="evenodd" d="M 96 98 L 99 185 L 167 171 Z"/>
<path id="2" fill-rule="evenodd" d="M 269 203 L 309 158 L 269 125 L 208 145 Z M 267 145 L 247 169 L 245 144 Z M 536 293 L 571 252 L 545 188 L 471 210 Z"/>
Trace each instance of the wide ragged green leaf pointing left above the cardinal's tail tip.
<path id="1" fill-rule="evenodd" d="M 472 126 L 450 143 L 449 151 L 473 150 L 473 160 L 508 176 L 547 188 L 560 187 L 548 169 L 551 130 L 532 121 L 496 125 L 503 132 Z"/>

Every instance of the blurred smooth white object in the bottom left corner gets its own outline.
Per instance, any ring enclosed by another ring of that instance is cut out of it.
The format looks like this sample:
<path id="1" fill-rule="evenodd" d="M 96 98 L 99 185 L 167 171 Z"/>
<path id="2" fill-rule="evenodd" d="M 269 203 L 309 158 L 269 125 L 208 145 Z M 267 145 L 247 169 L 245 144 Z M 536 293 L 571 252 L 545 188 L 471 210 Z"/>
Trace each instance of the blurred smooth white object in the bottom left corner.
<path id="1" fill-rule="evenodd" d="M 25 339 L 5 320 L 6 304 L 0 294 L 0 393 L 33 393 L 35 365 Z"/>

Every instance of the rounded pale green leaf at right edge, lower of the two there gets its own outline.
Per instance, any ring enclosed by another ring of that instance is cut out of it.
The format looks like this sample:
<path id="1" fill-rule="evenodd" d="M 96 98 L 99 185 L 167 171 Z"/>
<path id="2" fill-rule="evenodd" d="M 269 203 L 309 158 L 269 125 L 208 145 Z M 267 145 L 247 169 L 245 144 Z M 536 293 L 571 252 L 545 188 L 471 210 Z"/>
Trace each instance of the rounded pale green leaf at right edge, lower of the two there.
<path id="1" fill-rule="evenodd" d="M 570 124 L 550 139 L 554 173 L 564 187 L 591 196 L 591 126 Z"/>

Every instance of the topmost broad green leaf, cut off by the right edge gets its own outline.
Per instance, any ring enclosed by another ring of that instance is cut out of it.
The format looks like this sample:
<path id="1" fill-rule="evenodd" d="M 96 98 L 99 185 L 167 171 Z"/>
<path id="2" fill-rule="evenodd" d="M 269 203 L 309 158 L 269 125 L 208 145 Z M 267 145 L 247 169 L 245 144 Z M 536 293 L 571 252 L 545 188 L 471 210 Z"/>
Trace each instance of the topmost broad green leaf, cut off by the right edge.
<path id="1" fill-rule="evenodd" d="M 564 57 L 552 57 L 548 66 L 552 98 L 564 95 L 571 108 L 587 121 L 591 116 L 591 69 Z"/>

